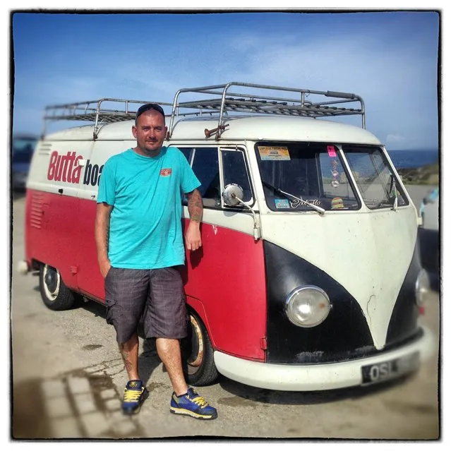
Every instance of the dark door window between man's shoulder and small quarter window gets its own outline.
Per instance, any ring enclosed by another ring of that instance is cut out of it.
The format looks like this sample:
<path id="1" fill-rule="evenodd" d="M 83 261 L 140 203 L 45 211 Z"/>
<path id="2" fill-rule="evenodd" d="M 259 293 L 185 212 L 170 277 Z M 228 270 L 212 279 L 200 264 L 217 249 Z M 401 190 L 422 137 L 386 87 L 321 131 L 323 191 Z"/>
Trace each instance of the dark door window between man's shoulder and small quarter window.
<path id="1" fill-rule="evenodd" d="M 217 148 L 196 148 L 193 150 L 194 174 L 200 181 L 200 195 L 205 207 L 219 207 L 221 204 L 220 168 Z"/>

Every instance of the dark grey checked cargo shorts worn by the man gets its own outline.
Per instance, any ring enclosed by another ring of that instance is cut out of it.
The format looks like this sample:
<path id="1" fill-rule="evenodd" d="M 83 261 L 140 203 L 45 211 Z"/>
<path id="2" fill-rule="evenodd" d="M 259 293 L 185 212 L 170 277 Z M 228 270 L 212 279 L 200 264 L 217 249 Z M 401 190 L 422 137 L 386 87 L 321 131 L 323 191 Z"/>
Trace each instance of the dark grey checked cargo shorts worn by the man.
<path id="1" fill-rule="evenodd" d="M 188 313 L 176 266 L 156 270 L 111 267 L 105 282 L 107 323 L 119 344 L 128 342 L 142 318 L 146 338 L 186 337 Z"/>

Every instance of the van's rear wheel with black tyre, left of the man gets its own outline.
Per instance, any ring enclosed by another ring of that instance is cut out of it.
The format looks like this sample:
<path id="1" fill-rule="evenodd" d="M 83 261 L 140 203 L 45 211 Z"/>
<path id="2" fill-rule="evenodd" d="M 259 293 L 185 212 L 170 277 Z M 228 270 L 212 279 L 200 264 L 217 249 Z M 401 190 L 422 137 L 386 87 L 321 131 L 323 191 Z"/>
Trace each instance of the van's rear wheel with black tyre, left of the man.
<path id="1" fill-rule="evenodd" d="M 76 297 L 53 266 L 40 265 L 39 287 L 42 301 L 51 310 L 68 310 L 76 303 Z"/>

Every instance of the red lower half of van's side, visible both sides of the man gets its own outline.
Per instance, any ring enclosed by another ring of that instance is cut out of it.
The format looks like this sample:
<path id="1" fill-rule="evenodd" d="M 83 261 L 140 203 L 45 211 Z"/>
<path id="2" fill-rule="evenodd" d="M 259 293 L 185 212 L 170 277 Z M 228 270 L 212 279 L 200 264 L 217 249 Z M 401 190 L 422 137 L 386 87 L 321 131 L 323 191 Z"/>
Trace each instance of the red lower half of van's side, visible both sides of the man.
<path id="1" fill-rule="evenodd" d="M 69 288 L 103 303 L 94 236 L 96 205 L 93 200 L 28 190 L 25 248 L 29 265 L 37 260 L 56 267 Z M 203 246 L 186 252 L 182 270 L 187 303 L 200 315 L 215 349 L 264 361 L 263 243 L 226 227 L 201 227 Z"/>

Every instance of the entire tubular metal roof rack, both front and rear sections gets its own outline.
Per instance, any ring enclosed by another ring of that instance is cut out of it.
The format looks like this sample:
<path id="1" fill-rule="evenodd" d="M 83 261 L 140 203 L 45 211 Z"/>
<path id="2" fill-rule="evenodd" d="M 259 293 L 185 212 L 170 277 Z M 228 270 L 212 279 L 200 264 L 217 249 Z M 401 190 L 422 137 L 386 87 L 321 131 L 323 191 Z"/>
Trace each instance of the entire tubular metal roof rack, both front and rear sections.
<path id="1" fill-rule="evenodd" d="M 251 93 L 229 92 L 231 86 L 239 87 L 239 89 L 251 88 Z M 266 92 L 271 90 L 275 94 L 266 95 L 262 93 L 264 90 Z M 194 95 L 194 97 L 203 96 L 203 98 L 179 102 L 182 93 L 191 93 L 191 97 Z M 289 95 L 287 93 L 290 93 L 290 97 L 287 97 Z M 208 95 L 208 98 L 205 99 L 205 95 Z M 281 95 L 284 97 L 279 97 Z M 335 99 L 328 100 L 330 97 Z M 95 124 L 93 138 L 97 139 L 102 125 L 135 119 L 139 106 L 146 103 L 157 103 L 172 107 L 167 139 L 171 138 L 174 132 L 176 117 L 202 116 L 205 114 L 218 117 L 217 128 L 205 131 L 207 138 L 215 135 L 216 140 L 220 139 L 222 132 L 227 127 L 224 122 L 237 114 L 277 114 L 279 116 L 312 118 L 357 114 L 362 118 L 362 128 L 366 128 L 365 107 L 362 98 L 358 95 L 349 92 L 314 91 L 230 82 L 224 85 L 178 90 L 173 103 L 104 98 L 87 102 L 50 105 L 45 108 L 42 136 L 45 135 L 49 121 L 90 121 Z M 354 108 L 347 107 L 349 103 L 357 103 L 357 105 Z M 169 117 L 169 114 L 167 116 Z"/>

